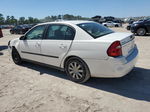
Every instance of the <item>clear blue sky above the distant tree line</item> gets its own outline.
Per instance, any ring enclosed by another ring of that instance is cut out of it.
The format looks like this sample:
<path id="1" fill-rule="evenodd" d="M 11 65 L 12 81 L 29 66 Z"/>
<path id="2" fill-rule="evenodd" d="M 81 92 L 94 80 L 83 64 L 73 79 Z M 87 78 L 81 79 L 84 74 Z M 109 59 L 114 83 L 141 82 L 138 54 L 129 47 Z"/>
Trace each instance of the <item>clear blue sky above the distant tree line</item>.
<path id="1" fill-rule="evenodd" d="M 36 17 L 73 14 L 114 17 L 150 16 L 150 0 L 0 0 L 5 17 Z"/>

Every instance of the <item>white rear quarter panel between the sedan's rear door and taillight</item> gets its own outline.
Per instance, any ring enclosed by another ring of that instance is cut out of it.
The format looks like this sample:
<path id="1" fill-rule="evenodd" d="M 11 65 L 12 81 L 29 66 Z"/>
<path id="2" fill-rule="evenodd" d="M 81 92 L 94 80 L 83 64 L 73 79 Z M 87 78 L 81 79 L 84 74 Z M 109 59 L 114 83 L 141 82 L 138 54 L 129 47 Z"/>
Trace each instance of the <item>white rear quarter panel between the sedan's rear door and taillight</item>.
<path id="1" fill-rule="evenodd" d="M 78 56 L 83 59 L 108 59 L 107 49 L 110 43 L 96 40 L 74 40 L 67 56 Z"/>

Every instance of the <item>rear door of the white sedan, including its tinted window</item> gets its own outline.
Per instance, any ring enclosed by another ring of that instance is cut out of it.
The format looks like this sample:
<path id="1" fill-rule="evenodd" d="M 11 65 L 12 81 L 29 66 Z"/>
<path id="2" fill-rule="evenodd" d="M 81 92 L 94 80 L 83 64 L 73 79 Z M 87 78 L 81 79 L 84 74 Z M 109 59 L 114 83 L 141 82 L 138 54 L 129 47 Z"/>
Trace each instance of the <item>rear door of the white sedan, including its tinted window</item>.
<path id="1" fill-rule="evenodd" d="M 47 29 L 46 38 L 41 43 L 43 62 L 59 67 L 70 49 L 74 36 L 73 28 L 62 24 L 51 24 Z"/>

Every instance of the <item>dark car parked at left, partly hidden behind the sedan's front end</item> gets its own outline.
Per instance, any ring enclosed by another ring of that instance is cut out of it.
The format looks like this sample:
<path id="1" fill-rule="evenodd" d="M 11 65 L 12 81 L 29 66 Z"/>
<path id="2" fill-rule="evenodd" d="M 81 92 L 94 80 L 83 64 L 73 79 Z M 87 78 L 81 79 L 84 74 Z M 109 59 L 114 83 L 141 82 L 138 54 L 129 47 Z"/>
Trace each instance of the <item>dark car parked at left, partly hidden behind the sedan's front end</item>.
<path id="1" fill-rule="evenodd" d="M 25 34 L 34 25 L 18 25 L 10 29 L 11 34 Z"/>

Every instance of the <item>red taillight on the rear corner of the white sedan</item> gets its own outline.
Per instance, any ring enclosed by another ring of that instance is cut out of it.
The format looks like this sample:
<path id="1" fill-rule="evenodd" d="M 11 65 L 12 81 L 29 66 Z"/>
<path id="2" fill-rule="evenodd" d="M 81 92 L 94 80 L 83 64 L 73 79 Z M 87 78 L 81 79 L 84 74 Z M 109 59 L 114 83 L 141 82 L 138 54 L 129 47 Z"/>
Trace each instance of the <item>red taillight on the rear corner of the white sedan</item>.
<path id="1" fill-rule="evenodd" d="M 112 57 L 122 56 L 122 46 L 120 41 L 113 42 L 108 48 L 107 54 Z"/>

